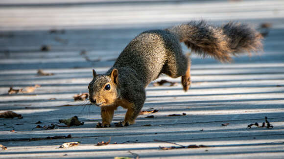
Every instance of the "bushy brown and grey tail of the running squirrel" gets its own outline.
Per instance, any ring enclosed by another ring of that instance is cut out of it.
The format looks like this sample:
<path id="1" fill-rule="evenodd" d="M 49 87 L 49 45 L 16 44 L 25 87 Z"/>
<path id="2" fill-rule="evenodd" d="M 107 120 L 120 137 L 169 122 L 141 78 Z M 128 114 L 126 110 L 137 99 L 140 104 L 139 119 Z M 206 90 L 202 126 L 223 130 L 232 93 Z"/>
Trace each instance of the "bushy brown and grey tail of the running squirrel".
<path id="1" fill-rule="evenodd" d="M 232 55 L 237 53 L 262 48 L 262 36 L 246 24 L 230 22 L 215 27 L 204 21 L 191 21 L 166 30 L 175 33 L 192 51 L 221 62 L 232 61 Z"/>

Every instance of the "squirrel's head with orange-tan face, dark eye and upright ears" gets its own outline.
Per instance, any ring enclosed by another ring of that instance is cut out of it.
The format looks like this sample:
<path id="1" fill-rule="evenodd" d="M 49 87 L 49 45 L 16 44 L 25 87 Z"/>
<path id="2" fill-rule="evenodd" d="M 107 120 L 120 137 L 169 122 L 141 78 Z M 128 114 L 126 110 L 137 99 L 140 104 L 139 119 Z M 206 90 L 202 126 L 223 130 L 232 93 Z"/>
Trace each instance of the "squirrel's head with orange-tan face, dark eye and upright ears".
<path id="1" fill-rule="evenodd" d="M 93 69 L 93 80 L 89 84 L 89 100 L 96 106 L 112 105 L 118 98 L 118 69 L 108 74 L 96 74 Z"/>

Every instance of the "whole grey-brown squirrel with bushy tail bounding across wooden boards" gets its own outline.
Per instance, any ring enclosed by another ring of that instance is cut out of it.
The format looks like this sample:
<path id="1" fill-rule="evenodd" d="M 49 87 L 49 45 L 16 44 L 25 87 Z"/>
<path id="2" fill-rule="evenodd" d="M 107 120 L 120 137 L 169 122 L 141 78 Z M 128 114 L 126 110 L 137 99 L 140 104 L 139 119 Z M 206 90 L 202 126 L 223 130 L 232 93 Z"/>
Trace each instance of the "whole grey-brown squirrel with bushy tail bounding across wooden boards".
<path id="1" fill-rule="evenodd" d="M 180 42 L 195 53 L 230 62 L 232 55 L 261 49 L 261 39 L 255 29 L 234 22 L 214 27 L 205 21 L 191 21 L 142 32 L 105 74 L 97 74 L 93 69 L 89 100 L 101 108 L 102 117 L 102 123 L 98 122 L 96 127 L 109 127 L 118 106 L 127 109 L 127 113 L 116 126 L 134 124 L 145 101 L 145 88 L 162 73 L 172 78 L 182 76 L 183 90 L 189 90 L 190 59 L 183 54 Z"/>

